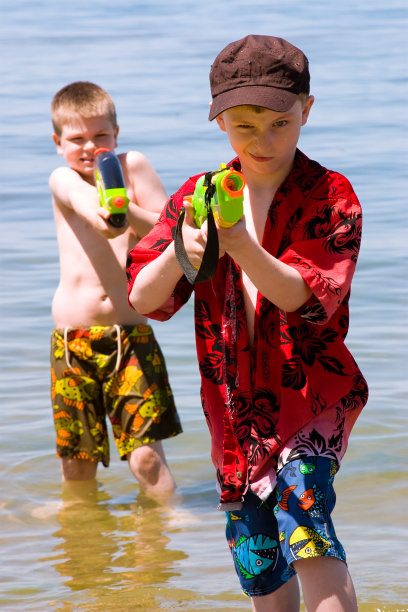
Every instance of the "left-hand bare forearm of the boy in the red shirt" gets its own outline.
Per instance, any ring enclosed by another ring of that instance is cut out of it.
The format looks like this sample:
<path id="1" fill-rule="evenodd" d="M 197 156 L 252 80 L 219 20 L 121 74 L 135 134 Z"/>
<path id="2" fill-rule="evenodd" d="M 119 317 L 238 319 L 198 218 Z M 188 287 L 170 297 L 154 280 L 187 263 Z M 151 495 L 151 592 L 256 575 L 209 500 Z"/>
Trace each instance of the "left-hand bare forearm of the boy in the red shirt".
<path id="1" fill-rule="evenodd" d="M 129 301 L 140 314 L 149 314 L 169 299 L 183 275 L 177 263 L 174 243 L 138 273 Z"/>

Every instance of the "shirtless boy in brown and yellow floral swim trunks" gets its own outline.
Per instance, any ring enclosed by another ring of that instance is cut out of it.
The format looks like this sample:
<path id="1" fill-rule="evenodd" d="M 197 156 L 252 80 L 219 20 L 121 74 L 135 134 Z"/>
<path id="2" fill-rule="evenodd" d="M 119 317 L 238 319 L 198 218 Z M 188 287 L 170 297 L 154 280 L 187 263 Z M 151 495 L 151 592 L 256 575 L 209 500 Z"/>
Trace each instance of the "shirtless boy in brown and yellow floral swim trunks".
<path id="1" fill-rule="evenodd" d="M 108 416 L 122 460 L 146 493 L 175 483 L 161 440 L 181 432 L 165 362 L 146 317 L 126 299 L 126 256 L 158 218 L 163 185 L 142 153 L 119 155 L 130 204 L 109 223 L 94 180 L 94 152 L 117 146 L 109 94 L 90 82 L 63 87 L 51 107 L 53 140 L 67 166 L 50 176 L 60 258 L 52 303 L 52 404 L 65 481 L 93 480 L 109 465 Z"/>

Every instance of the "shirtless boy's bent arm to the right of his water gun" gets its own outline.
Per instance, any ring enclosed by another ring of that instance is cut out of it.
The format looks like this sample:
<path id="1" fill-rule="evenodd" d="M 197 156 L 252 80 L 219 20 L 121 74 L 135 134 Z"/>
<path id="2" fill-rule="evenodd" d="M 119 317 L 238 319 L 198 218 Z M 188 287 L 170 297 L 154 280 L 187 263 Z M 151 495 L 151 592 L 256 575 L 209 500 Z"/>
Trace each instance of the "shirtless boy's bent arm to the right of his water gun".
<path id="1" fill-rule="evenodd" d="M 119 155 L 135 202 L 128 208 L 128 220 L 139 237 L 145 236 L 156 223 L 166 200 L 163 184 L 146 157 L 137 151 Z"/>

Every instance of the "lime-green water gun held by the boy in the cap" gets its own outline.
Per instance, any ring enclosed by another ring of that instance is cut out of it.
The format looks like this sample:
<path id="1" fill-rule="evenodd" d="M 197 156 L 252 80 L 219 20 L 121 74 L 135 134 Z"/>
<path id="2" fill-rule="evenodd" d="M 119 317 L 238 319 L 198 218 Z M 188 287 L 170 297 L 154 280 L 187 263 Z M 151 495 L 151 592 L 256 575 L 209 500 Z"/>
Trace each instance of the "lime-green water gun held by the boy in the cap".
<path id="1" fill-rule="evenodd" d="M 241 172 L 221 164 L 219 170 L 201 176 L 190 196 L 194 221 L 201 227 L 211 207 L 214 219 L 221 227 L 231 227 L 244 214 L 245 179 Z"/>

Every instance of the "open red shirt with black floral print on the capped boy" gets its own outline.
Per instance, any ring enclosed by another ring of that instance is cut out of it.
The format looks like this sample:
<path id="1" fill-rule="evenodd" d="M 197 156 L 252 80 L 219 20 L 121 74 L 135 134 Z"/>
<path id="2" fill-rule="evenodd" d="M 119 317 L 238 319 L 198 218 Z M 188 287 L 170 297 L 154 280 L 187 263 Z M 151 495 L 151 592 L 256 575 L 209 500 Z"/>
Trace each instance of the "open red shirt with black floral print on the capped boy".
<path id="1" fill-rule="evenodd" d="M 238 159 L 233 163 L 240 169 Z M 129 291 L 138 271 L 173 240 L 183 196 L 198 178 L 168 200 L 155 227 L 130 252 Z M 167 303 L 148 315 L 170 318 L 194 290 L 201 399 L 223 508 L 241 502 L 252 483 L 275 469 L 288 440 L 333 406 L 339 435 L 325 444 L 334 456 L 347 446 L 368 397 L 344 343 L 361 224 L 348 180 L 297 151 L 271 203 L 262 246 L 300 272 L 313 292 L 310 300 L 283 312 L 258 292 L 250 348 L 241 270 L 224 255 L 211 281 L 193 287 L 183 277 Z"/>

